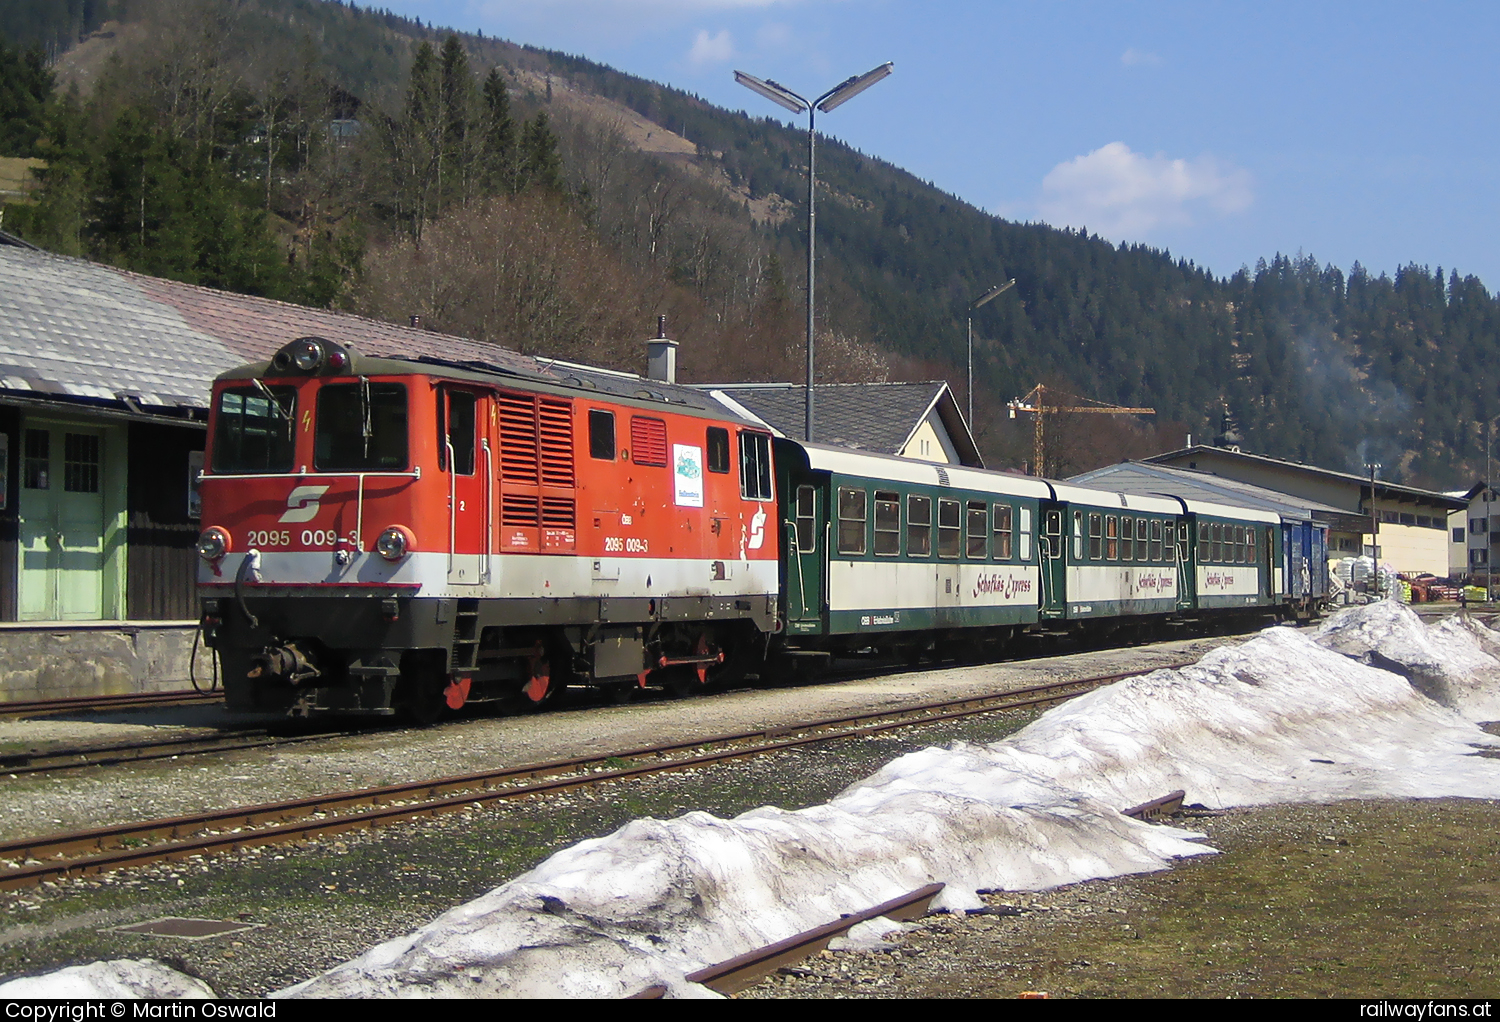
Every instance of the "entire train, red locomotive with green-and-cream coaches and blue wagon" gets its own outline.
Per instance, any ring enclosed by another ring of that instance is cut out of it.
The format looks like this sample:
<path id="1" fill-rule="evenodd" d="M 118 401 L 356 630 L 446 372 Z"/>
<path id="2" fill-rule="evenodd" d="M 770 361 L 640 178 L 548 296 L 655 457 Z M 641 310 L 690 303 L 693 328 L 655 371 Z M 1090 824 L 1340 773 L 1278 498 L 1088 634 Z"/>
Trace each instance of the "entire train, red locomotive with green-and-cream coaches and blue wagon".
<path id="1" fill-rule="evenodd" d="M 504 359 L 298 338 L 214 381 L 200 599 L 231 708 L 426 720 L 1326 594 L 1284 570 L 1318 563 L 1316 524 L 804 444 L 706 390 Z"/>

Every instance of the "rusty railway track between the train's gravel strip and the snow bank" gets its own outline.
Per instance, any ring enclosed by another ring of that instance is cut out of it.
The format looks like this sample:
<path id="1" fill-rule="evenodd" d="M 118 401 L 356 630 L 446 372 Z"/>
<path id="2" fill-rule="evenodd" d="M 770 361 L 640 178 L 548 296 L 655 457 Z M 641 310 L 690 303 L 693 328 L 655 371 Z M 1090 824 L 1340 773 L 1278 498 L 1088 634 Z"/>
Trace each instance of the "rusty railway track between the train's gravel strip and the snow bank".
<path id="1" fill-rule="evenodd" d="M 6 840 L 0 842 L 0 861 L 8 861 L 10 866 L 0 866 L 0 890 L 255 845 L 288 843 L 366 830 L 476 804 L 546 795 L 672 770 L 692 770 L 984 713 L 1040 707 L 1083 695 L 1120 678 L 1174 666 L 1186 666 L 1186 662 L 986 696 L 646 746 L 603 756 L 560 759 L 190 816 Z"/>

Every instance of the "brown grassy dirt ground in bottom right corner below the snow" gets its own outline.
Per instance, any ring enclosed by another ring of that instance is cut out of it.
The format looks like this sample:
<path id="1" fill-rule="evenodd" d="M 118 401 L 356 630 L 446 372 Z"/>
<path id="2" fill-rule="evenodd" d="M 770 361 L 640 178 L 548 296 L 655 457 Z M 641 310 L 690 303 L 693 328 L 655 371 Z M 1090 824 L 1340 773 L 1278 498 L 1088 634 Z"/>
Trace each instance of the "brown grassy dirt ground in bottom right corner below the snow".
<path id="1" fill-rule="evenodd" d="M 740 996 L 1494 998 L 1500 803 L 1350 801 L 1184 819 L 1222 854 L 934 915 Z"/>

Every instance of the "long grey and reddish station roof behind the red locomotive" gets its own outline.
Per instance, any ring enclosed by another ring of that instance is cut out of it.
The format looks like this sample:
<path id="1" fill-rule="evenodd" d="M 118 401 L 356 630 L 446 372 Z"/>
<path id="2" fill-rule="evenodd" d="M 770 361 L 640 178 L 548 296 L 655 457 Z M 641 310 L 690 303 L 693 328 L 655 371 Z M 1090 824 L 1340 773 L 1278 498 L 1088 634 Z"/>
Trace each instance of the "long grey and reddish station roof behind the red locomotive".
<path id="1" fill-rule="evenodd" d="M 0 390 L 204 408 L 220 372 L 266 362 L 286 342 L 309 335 L 352 345 L 366 356 L 478 362 L 562 386 L 724 414 L 688 387 L 0 245 Z"/>

